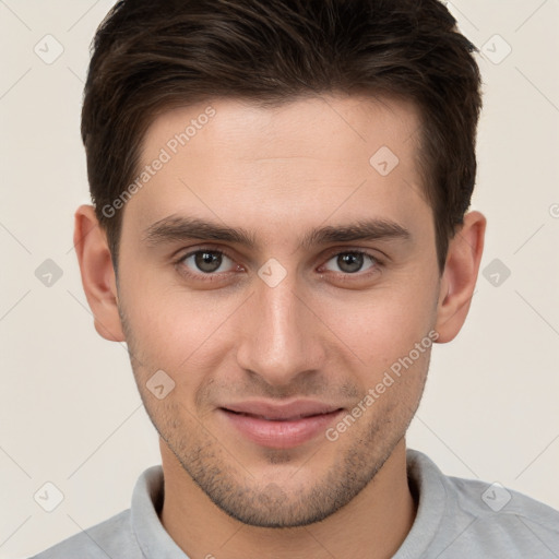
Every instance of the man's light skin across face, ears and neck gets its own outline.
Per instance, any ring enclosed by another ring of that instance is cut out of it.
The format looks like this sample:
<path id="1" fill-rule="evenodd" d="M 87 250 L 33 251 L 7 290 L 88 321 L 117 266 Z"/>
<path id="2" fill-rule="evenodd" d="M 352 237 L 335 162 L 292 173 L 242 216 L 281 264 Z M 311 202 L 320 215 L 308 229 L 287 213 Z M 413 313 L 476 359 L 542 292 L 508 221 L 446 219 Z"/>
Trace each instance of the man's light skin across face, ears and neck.
<path id="1" fill-rule="evenodd" d="M 207 105 L 154 120 L 142 165 Z M 75 214 L 95 328 L 127 342 L 160 436 L 162 523 L 193 559 L 392 557 L 416 515 L 405 432 L 430 349 L 335 441 L 321 433 L 270 449 L 219 407 L 307 397 L 350 411 L 430 331 L 439 343 L 453 340 L 469 309 L 485 217 L 466 214 L 441 275 L 411 103 L 323 96 L 265 109 L 223 98 L 211 105 L 213 119 L 126 204 L 118 282 L 93 207 Z M 383 145 L 400 159 L 386 176 L 369 163 Z M 150 246 L 150 226 L 181 215 L 243 228 L 255 245 Z M 314 227 L 367 218 L 395 222 L 411 236 L 299 247 Z M 176 263 L 201 249 L 229 257 L 212 281 L 194 258 Z M 348 272 L 337 254 L 352 249 L 382 263 L 365 257 Z M 274 287 L 258 275 L 272 258 L 286 271 Z M 146 388 L 159 369 L 175 382 L 163 400 Z"/>

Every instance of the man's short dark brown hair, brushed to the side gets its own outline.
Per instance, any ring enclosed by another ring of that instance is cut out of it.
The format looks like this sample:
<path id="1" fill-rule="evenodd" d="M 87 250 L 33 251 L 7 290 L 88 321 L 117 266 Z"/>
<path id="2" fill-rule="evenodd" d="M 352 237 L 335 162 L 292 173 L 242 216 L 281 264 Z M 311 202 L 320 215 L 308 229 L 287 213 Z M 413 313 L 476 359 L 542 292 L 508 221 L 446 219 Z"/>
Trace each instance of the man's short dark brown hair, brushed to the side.
<path id="1" fill-rule="evenodd" d="M 412 100 L 440 272 L 476 177 L 476 48 L 438 0 L 120 0 L 92 45 L 82 139 L 115 270 L 122 210 L 155 116 L 204 99 L 263 106 L 321 93 Z M 371 154 L 372 155 L 372 154 Z"/>

